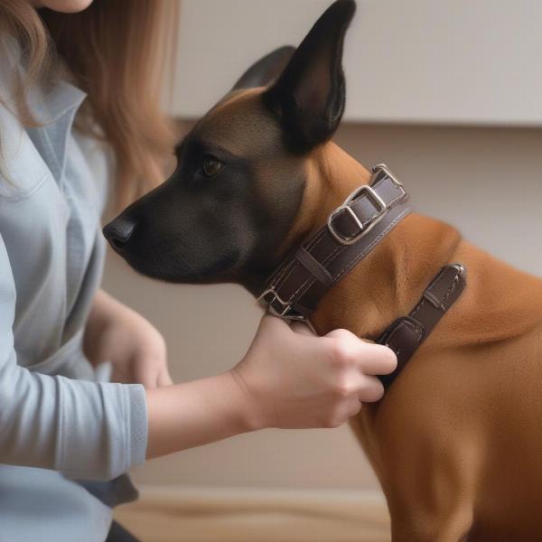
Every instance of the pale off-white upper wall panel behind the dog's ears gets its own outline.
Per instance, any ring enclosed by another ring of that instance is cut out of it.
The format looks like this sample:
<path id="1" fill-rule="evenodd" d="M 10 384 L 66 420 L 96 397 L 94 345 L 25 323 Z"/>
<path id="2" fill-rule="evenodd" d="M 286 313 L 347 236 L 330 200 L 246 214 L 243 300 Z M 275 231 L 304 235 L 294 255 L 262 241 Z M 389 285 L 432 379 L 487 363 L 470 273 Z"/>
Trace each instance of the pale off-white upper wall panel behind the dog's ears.
<path id="1" fill-rule="evenodd" d="M 182 0 L 169 112 L 198 117 L 332 0 Z M 358 0 L 343 64 L 355 122 L 542 126 L 542 3 Z M 211 82 L 212 84 L 209 84 Z"/>

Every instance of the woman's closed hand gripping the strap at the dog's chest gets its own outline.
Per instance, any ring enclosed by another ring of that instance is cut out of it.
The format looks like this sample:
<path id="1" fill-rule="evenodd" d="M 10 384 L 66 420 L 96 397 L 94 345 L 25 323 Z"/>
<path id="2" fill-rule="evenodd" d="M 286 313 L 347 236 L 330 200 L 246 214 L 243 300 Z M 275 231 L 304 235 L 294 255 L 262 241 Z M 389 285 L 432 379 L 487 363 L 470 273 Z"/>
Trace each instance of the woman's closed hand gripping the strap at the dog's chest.
<path id="1" fill-rule="evenodd" d="M 290 328 L 266 315 L 247 355 L 231 373 L 248 397 L 256 427 L 337 427 L 378 401 L 374 375 L 397 367 L 394 352 L 346 330 L 317 337 L 302 323 Z"/>

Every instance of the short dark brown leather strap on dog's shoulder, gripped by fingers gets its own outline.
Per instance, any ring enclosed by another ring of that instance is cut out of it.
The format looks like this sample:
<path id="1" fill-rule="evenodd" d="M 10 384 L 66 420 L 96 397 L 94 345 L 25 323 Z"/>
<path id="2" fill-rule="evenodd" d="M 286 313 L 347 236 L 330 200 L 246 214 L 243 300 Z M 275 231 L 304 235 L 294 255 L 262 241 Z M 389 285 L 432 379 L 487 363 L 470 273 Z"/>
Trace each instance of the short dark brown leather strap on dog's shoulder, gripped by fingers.
<path id="1" fill-rule="evenodd" d="M 395 380 L 425 341 L 446 311 L 457 301 L 466 285 L 466 269 L 461 264 L 444 266 L 425 288 L 420 301 L 408 316 L 397 318 L 378 337 L 397 356 L 397 369 L 389 375 L 378 376 L 385 388 Z"/>

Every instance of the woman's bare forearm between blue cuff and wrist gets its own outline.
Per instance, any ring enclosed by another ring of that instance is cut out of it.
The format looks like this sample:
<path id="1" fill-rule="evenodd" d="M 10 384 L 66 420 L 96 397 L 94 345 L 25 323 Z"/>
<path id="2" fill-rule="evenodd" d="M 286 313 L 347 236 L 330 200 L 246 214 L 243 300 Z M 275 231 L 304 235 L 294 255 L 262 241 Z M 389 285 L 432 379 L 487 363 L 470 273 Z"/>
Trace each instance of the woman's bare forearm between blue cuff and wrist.
<path id="1" fill-rule="evenodd" d="M 231 372 L 146 392 L 147 459 L 257 429 Z"/>

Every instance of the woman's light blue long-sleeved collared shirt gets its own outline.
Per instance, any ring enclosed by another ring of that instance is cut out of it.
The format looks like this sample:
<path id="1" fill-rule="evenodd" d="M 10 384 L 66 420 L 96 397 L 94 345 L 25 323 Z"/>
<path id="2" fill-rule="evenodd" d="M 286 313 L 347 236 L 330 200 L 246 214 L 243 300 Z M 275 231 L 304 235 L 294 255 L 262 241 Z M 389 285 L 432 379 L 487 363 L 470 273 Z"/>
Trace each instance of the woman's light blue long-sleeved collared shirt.
<path id="1" fill-rule="evenodd" d="M 147 436 L 144 388 L 96 381 L 81 346 L 107 148 L 72 130 L 85 94 L 61 80 L 33 89 L 45 124 L 24 128 L 9 107 L 16 49 L 0 59 L 0 542 L 103 541 L 110 509 L 70 479 L 143 463 Z"/>

